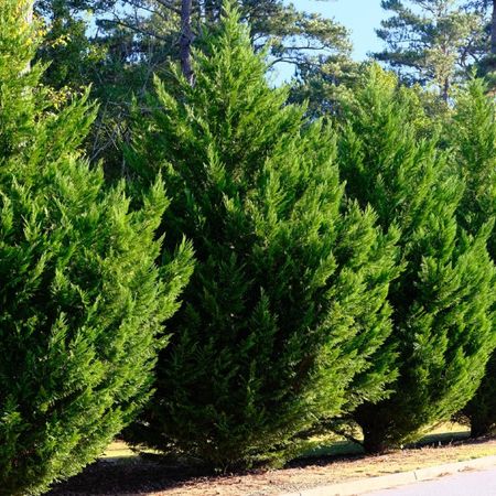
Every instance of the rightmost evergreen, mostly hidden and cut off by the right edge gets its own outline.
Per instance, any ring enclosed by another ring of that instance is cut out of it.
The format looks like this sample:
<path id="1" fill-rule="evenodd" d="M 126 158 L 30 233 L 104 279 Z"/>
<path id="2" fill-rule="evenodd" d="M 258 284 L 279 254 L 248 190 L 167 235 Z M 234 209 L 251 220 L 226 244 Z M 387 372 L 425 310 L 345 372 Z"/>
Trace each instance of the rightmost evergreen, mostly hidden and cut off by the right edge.
<path id="1" fill-rule="evenodd" d="M 482 80 L 470 82 L 459 93 L 453 119 L 446 122 L 445 129 L 453 168 L 466 182 L 459 211 L 460 220 L 470 233 L 476 233 L 496 216 L 496 105 L 494 97 L 486 93 Z M 488 249 L 493 260 L 496 260 L 495 229 L 490 234 Z M 496 328 L 496 322 L 493 326 Z M 488 434 L 495 430 L 496 353 L 487 364 L 475 397 L 462 412 L 470 419 L 472 435 Z"/>

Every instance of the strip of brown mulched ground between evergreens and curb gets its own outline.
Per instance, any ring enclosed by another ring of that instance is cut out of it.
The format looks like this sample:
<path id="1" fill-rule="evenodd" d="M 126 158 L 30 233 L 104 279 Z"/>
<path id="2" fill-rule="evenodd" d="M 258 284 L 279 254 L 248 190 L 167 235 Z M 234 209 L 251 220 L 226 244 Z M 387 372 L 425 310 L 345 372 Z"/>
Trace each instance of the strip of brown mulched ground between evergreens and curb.
<path id="1" fill-rule="evenodd" d="M 439 444 L 439 443 L 438 443 Z M 456 441 L 379 456 L 321 456 L 269 472 L 213 476 L 197 470 L 166 466 L 114 448 L 83 474 L 60 484 L 50 496 L 276 496 L 320 485 L 406 472 L 442 463 L 496 455 L 496 440 Z"/>

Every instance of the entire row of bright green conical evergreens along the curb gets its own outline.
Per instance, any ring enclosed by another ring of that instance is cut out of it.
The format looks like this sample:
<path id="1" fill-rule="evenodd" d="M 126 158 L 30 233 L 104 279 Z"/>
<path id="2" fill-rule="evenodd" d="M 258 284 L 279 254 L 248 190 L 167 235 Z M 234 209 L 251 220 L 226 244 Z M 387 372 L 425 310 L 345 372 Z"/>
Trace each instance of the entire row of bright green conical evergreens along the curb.
<path id="1" fill-rule="evenodd" d="M 496 112 L 433 117 L 378 66 L 310 119 L 227 3 L 191 84 L 157 79 L 106 184 L 0 9 L 0 494 L 41 494 L 123 430 L 217 470 L 334 430 L 380 452 L 496 422 Z M 165 325 L 166 322 L 166 325 Z M 363 439 L 356 432 L 363 433 Z"/>

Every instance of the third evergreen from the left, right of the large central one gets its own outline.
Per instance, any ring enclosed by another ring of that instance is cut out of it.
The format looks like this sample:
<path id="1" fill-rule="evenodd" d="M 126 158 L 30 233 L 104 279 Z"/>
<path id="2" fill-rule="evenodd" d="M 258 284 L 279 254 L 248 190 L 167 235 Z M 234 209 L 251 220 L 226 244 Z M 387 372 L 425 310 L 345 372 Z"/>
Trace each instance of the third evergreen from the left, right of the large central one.
<path id="1" fill-rule="evenodd" d="M 463 183 L 434 137 L 419 137 L 414 95 L 378 67 L 349 103 L 341 139 L 347 194 L 371 205 L 401 236 L 401 276 L 391 284 L 398 351 L 396 392 L 358 407 L 368 451 L 382 451 L 448 420 L 474 395 L 494 348 L 490 225 L 474 237 L 456 222 Z"/>

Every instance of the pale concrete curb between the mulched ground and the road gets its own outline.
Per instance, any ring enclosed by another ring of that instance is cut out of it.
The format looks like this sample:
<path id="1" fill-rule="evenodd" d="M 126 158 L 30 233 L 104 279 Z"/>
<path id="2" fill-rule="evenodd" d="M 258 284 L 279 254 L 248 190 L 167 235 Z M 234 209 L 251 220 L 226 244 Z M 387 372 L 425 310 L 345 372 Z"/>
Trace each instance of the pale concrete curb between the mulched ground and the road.
<path id="1" fill-rule="evenodd" d="M 417 471 L 401 472 L 399 474 L 381 475 L 347 483 L 302 489 L 296 493 L 285 493 L 281 496 L 356 496 L 373 490 L 388 489 L 405 486 L 420 481 L 429 481 L 444 475 L 452 475 L 464 471 L 476 471 L 496 466 L 496 456 L 466 460 L 465 462 L 446 463 L 444 465 L 429 466 Z"/>

